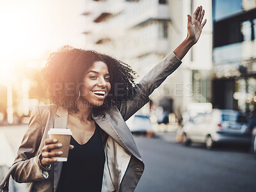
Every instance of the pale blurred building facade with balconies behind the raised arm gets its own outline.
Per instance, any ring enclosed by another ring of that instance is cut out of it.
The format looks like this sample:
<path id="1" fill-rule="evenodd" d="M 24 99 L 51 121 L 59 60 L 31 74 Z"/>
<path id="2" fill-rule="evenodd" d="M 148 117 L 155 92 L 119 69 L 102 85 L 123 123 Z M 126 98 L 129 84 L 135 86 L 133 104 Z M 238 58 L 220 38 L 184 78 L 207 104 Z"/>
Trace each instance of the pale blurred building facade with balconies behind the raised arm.
<path id="1" fill-rule="evenodd" d="M 140 75 L 138 82 L 187 36 L 187 14 L 202 4 L 211 22 L 210 0 L 86 1 L 86 48 L 121 59 Z M 170 101 L 170 112 L 187 110 L 191 102 L 208 102 L 212 68 L 212 27 L 183 64 L 150 99 Z M 204 57 L 202 57 L 204 55 Z M 195 77 L 195 78 L 194 78 Z M 161 103 L 161 102 L 160 102 Z M 166 103 L 166 102 L 163 102 Z"/>

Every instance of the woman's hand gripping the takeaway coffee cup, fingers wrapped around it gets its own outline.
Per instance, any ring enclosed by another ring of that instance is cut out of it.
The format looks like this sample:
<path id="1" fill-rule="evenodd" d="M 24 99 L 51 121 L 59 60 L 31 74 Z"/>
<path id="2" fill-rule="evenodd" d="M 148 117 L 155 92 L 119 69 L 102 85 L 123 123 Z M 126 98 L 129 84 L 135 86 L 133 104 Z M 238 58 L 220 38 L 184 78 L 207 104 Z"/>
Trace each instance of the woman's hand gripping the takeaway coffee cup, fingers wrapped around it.
<path id="1" fill-rule="evenodd" d="M 43 166 L 51 165 L 57 161 L 57 157 L 61 156 L 62 152 L 51 152 L 52 149 L 60 149 L 62 144 L 58 143 L 58 140 L 47 138 L 44 141 L 44 147 L 42 149 L 41 164 Z M 73 145 L 69 145 L 69 149 L 73 149 Z"/>

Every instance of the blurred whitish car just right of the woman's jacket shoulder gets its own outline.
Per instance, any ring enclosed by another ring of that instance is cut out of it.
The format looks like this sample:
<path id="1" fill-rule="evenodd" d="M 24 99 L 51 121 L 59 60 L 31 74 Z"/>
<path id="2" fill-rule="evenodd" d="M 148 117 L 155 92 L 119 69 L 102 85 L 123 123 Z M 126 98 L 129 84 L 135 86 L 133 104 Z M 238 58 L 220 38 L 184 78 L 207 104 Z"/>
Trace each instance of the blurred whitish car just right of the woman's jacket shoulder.
<path id="1" fill-rule="evenodd" d="M 147 137 L 153 136 L 152 124 L 147 115 L 132 115 L 132 117 L 126 121 L 126 124 L 134 135 L 146 135 Z"/>

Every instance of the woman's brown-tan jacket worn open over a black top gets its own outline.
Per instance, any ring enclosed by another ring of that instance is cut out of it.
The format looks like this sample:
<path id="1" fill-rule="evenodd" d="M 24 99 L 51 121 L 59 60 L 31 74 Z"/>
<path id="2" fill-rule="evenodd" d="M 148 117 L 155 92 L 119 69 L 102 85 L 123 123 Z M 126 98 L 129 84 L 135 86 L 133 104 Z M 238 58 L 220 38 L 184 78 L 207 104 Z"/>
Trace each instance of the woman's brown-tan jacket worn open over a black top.
<path id="1" fill-rule="evenodd" d="M 125 101 L 118 108 L 111 107 L 105 112 L 92 115 L 102 129 L 100 133 L 106 154 L 102 192 L 128 192 L 136 188 L 143 174 L 144 163 L 125 121 L 149 101 L 148 96 L 180 64 L 181 61 L 173 52 L 168 54 L 136 84 L 136 96 L 132 100 Z M 17 182 L 30 182 L 28 191 L 56 191 L 62 162 L 54 163 L 52 169 L 45 172 L 38 166 L 38 155 L 42 153 L 47 132 L 54 127 L 54 122 L 65 123 L 67 117 L 67 109 L 56 105 L 38 105 L 33 110 L 28 130 L 13 164 L 19 161 L 22 163 L 12 174 Z"/>

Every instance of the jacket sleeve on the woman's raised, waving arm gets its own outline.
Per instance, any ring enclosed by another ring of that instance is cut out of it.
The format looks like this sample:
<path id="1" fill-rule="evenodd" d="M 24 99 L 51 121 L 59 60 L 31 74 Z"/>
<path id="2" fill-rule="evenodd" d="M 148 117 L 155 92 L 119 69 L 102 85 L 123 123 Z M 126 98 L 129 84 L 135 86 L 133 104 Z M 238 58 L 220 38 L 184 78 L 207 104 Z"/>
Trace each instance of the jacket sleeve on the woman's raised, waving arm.
<path id="1" fill-rule="evenodd" d="M 148 96 L 150 96 L 181 63 L 180 59 L 171 52 L 135 85 L 133 88 L 134 98 L 122 101 L 120 108 L 118 107 L 125 121 L 150 100 Z"/>

